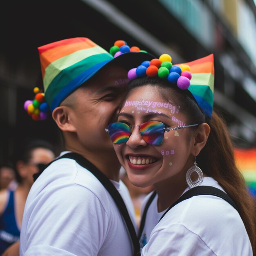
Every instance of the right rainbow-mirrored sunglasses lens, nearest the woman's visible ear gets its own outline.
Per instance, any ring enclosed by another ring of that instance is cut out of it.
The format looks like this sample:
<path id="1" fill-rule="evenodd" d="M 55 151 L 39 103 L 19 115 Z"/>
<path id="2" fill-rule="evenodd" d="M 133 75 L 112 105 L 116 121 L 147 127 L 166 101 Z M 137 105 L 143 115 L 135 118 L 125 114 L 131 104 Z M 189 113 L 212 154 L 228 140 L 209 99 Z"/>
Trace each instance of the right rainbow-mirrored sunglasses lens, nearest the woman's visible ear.
<path id="1" fill-rule="evenodd" d="M 164 124 L 157 121 L 150 121 L 140 126 L 142 138 L 151 145 L 161 145 L 164 139 Z"/>

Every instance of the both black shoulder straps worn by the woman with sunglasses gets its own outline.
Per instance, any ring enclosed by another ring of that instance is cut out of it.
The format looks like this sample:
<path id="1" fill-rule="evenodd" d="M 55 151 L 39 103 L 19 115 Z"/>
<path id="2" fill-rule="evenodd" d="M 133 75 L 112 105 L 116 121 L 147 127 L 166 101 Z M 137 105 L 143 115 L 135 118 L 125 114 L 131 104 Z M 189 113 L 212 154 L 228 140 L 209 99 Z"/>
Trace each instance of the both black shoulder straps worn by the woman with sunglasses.
<path id="1" fill-rule="evenodd" d="M 145 221 L 146 221 L 146 215 L 147 215 L 147 211 L 148 211 L 148 208 L 151 204 L 151 202 L 153 201 L 153 199 L 155 198 L 155 195 L 156 193 L 154 192 L 147 204 L 146 204 L 146 207 L 144 209 L 144 212 L 143 212 L 143 216 L 141 218 L 141 226 L 139 227 L 139 238 L 141 237 L 141 234 L 143 232 L 143 229 L 144 229 L 144 225 L 145 225 Z M 162 220 L 162 218 L 164 218 L 164 216 L 166 215 L 166 213 L 168 211 L 170 211 L 176 204 L 186 200 L 186 199 L 189 199 L 191 197 L 193 197 L 194 195 L 214 195 L 214 196 L 217 196 L 219 198 L 222 198 L 223 200 L 227 201 L 229 204 L 231 204 L 236 210 L 237 210 L 237 207 L 236 207 L 236 204 L 234 203 L 234 201 L 230 198 L 229 195 L 227 195 L 225 192 L 223 192 L 222 190 L 220 189 L 217 189 L 213 186 L 197 186 L 197 187 L 194 187 L 192 189 L 189 189 L 188 191 L 186 191 L 182 196 L 180 196 L 180 198 L 178 198 L 165 212 L 164 214 L 162 215 L 162 217 L 160 218 L 160 220 Z M 160 221 L 159 220 L 159 221 Z M 159 222 L 158 221 L 158 222 Z"/>

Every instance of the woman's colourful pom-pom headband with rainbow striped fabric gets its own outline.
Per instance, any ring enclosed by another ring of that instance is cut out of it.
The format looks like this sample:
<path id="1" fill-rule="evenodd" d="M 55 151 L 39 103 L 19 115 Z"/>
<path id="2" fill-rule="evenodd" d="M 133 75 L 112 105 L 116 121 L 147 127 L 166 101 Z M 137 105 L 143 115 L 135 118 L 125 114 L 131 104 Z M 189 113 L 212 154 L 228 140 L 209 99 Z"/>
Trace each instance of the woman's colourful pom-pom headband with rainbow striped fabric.
<path id="1" fill-rule="evenodd" d="M 168 54 L 159 59 L 144 61 L 138 67 L 128 71 L 130 81 L 137 77 L 158 76 L 176 84 L 182 90 L 189 90 L 201 110 L 211 119 L 213 111 L 214 60 L 213 54 L 206 57 L 173 65 Z"/>

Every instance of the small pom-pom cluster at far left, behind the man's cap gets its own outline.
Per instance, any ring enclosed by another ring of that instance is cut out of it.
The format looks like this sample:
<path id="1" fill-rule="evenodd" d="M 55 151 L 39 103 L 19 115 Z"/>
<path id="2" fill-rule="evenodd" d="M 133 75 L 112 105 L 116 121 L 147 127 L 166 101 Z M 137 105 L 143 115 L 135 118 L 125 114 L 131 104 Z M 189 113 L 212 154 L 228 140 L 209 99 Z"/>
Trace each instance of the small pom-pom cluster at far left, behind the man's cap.
<path id="1" fill-rule="evenodd" d="M 49 112 L 48 104 L 45 102 L 45 94 L 40 92 L 38 87 L 34 88 L 36 94 L 34 100 L 27 100 L 24 103 L 25 111 L 32 117 L 33 120 L 45 120 Z"/>

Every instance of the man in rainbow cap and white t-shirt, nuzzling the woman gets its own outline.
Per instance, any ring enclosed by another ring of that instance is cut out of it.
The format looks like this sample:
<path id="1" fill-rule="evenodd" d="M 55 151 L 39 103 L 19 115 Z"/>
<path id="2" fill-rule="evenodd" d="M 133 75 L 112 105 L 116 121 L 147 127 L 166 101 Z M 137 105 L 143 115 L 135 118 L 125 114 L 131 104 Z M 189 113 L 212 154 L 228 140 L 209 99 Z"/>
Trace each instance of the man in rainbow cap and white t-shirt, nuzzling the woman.
<path id="1" fill-rule="evenodd" d="M 127 70 L 152 55 L 113 58 L 89 38 L 38 50 L 45 99 L 67 151 L 31 188 L 20 255 L 133 255 L 138 249 L 134 208 L 119 182 L 120 164 L 105 128 L 117 119 Z"/>

